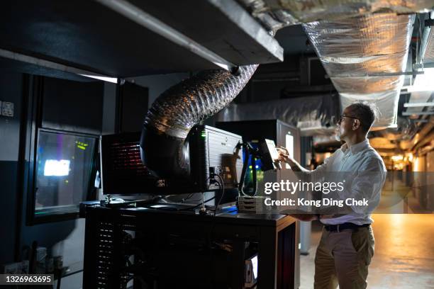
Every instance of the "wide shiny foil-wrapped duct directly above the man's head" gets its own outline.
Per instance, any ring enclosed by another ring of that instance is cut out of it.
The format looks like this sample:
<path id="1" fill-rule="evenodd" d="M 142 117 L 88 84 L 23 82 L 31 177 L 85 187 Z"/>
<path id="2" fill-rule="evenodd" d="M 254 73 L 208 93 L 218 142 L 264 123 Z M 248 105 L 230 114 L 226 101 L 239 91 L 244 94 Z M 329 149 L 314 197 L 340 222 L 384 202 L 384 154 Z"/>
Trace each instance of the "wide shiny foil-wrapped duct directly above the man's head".
<path id="1" fill-rule="evenodd" d="M 396 126 L 404 76 L 387 74 L 406 68 L 413 21 L 413 15 L 374 13 L 303 24 L 342 107 L 360 100 L 375 103 L 382 113 L 377 128 Z"/>

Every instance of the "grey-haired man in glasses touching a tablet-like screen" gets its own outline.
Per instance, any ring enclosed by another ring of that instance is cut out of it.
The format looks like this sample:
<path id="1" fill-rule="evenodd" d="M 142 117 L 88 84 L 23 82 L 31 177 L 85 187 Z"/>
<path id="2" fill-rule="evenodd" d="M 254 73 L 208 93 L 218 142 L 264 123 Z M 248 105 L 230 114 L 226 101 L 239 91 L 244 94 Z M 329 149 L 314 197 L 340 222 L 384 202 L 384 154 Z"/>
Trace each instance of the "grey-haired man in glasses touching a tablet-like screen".
<path id="1" fill-rule="evenodd" d="M 368 266 L 374 255 L 371 213 L 379 203 L 386 178 L 386 166 L 367 140 L 367 132 L 375 118 L 377 108 L 369 103 L 352 103 L 345 108 L 336 128 L 337 139 L 345 144 L 313 171 L 304 169 L 281 151 L 280 159 L 301 174 L 350 172 L 354 178 L 341 197 L 363 196 L 369 201 L 368 206 L 351 206 L 352 211 L 345 215 L 317 215 L 324 228 L 315 256 L 316 289 L 338 285 L 340 289 L 367 287 Z M 300 218 L 313 220 L 315 217 L 305 215 Z"/>

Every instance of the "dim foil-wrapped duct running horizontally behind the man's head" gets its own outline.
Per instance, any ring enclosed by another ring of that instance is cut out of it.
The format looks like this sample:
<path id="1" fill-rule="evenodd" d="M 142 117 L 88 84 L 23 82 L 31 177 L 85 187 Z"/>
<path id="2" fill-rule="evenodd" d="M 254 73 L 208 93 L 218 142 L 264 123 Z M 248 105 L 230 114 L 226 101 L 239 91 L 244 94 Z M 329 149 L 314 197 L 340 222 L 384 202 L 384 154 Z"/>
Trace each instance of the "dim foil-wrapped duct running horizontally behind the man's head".
<path id="1" fill-rule="evenodd" d="M 286 98 L 255 103 L 232 103 L 216 115 L 217 121 L 279 119 L 301 130 L 302 135 L 333 132 L 340 115 L 337 94 Z"/>

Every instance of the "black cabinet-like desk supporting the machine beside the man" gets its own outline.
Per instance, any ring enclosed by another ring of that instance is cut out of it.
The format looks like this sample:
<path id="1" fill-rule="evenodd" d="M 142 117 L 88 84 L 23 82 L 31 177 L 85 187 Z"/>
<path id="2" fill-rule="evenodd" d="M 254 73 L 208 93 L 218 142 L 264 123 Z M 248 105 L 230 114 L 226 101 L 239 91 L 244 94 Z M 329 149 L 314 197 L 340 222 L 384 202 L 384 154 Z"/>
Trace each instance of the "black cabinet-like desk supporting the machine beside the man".
<path id="1" fill-rule="evenodd" d="M 147 280 L 155 278 L 155 282 L 165 283 L 176 278 L 180 285 L 192 282 L 198 288 L 243 288 L 244 260 L 252 251 L 258 254 L 257 288 L 299 287 L 298 222 L 287 215 L 229 210 L 213 217 L 186 211 L 96 205 L 86 208 L 85 216 L 85 289 L 122 288 L 126 282 L 125 264 L 129 264 L 126 256 L 130 254 L 137 260 L 151 260 L 140 261 L 140 266 L 128 265 L 128 271 L 135 275 L 146 271 L 143 278 Z M 194 244 L 191 240 L 195 240 Z M 127 243 L 136 250 L 128 249 Z M 222 243 L 230 244 L 230 253 L 215 249 Z M 208 244 L 214 249 L 209 249 Z M 142 251 L 138 246 L 142 246 Z M 223 283 L 216 285 L 218 282 Z M 135 280 L 135 288 L 140 288 L 138 285 Z M 164 287 L 159 284 L 158 288 Z"/>

